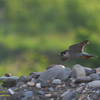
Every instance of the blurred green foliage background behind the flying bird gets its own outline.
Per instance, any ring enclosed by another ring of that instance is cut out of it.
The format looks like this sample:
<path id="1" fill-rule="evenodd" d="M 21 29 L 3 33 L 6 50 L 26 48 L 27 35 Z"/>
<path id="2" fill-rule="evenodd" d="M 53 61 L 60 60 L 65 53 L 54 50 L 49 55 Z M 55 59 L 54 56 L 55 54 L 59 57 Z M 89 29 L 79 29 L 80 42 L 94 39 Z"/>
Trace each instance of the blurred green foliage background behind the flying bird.
<path id="1" fill-rule="evenodd" d="M 97 55 L 62 62 L 59 52 L 89 40 L 86 52 Z M 44 71 L 51 64 L 99 67 L 99 0 L 0 0 L 0 76 Z"/>

